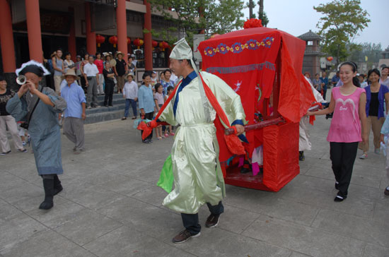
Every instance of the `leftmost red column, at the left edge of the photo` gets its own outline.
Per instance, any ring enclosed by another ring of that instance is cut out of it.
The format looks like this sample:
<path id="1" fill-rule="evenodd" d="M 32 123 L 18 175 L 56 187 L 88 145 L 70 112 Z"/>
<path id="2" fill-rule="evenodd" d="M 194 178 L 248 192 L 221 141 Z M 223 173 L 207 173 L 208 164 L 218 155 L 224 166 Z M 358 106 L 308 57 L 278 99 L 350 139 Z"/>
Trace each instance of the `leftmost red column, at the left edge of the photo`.
<path id="1" fill-rule="evenodd" d="M 4 73 L 13 73 L 16 70 L 15 48 L 13 47 L 11 10 L 6 0 L 0 0 L 0 44 Z"/>

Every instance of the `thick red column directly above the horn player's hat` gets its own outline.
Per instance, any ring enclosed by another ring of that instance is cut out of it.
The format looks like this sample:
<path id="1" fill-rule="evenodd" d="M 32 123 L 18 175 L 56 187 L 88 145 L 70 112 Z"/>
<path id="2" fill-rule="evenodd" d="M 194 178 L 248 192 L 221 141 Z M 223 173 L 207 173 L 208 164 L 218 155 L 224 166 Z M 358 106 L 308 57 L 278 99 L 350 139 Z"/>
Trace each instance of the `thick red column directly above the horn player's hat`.
<path id="1" fill-rule="evenodd" d="M 39 0 L 25 0 L 25 15 L 27 17 L 28 49 L 30 59 L 43 61 L 42 33 L 40 31 Z"/>

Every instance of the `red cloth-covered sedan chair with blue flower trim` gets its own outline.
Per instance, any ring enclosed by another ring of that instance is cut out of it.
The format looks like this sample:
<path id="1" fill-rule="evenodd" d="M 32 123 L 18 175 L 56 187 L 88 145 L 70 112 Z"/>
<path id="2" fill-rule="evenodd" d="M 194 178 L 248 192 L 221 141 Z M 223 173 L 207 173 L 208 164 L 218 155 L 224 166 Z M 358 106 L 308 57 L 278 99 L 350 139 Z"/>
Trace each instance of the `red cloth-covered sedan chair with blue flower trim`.
<path id="1" fill-rule="evenodd" d="M 228 151 L 225 130 L 215 121 L 226 184 L 279 191 L 299 173 L 298 122 L 315 102 L 301 72 L 305 47 L 303 40 L 271 28 L 238 30 L 199 44 L 202 71 L 219 76 L 240 95 L 248 121 L 246 156 Z M 261 145 L 261 172 L 240 173 L 242 160 L 251 160 Z"/>

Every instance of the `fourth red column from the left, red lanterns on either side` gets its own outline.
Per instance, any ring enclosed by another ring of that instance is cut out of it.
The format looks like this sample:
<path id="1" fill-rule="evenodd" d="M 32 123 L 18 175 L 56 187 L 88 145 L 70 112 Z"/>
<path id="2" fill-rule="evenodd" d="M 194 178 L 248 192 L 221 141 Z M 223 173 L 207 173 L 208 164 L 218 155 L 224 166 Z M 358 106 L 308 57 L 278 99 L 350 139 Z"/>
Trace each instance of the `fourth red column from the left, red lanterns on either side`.
<path id="1" fill-rule="evenodd" d="M 123 59 L 127 62 L 127 18 L 126 1 L 116 1 L 116 22 L 117 22 L 117 50 L 123 53 Z"/>

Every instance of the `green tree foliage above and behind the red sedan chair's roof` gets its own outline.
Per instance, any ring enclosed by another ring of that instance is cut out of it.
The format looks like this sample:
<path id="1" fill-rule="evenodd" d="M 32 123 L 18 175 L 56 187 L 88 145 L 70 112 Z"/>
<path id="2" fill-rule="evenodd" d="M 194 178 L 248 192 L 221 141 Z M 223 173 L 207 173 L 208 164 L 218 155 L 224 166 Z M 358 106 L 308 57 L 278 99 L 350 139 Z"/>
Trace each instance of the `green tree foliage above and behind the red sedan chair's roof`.
<path id="1" fill-rule="evenodd" d="M 177 37 L 170 37 L 169 42 L 178 37 L 187 37 L 192 42 L 194 34 L 204 32 L 208 35 L 224 34 L 243 27 L 243 0 L 149 0 L 151 8 L 161 11 L 164 18 L 172 20 L 178 31 Z M 175 11 L 178 18 L 174 18 Z M 182 35 L 182 33 L 185 35 Z M 162 34 L 163 36 L 163 34 Z"/>

